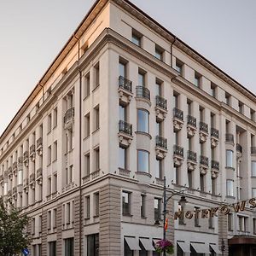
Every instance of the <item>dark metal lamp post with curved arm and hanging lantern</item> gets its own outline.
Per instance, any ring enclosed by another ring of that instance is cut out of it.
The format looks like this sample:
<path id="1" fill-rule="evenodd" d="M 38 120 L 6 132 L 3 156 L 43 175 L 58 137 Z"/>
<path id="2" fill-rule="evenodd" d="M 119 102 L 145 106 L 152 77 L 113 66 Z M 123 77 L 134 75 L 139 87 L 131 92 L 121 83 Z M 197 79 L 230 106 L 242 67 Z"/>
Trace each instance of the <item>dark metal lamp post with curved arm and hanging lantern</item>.
<path id="1" fill-rule="evenodd" d="M 187 190 L 187 189 L 183 189 L 181 191 L 178 192 L 172 192 L 172 195 L 168 196 L 166 198 L 166 176 L 164 177 L 164 195 L 163 195 L 163 204 L 164 204 L 164 210 L 163 210 L 163 215 L 164 215 L 164 224 L 163 224 L 163 240 L 166 240 L 166 206 L 168 201 L 172 198 L 173 195 L 181 195 L 181 199 L 179 202 L 180 206 L 182 207 L 182 209 L 184 208 L 185 204 L 186 204 L 186 197 L 183 195 L 183 192 Z M 166 250 L 164 251 L 164 256 L 166 256 Z"/>

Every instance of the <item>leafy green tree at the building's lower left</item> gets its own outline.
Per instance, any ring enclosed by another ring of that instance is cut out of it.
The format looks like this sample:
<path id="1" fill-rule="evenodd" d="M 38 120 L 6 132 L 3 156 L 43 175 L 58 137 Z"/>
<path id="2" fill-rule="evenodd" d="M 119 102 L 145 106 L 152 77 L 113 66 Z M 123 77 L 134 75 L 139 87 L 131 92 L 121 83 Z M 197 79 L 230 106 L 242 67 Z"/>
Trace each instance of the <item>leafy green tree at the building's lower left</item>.
<path id="1" fill-rule="evenodd" d="M 20 254 L 30 243 L 26 230 L 29 218 L 20 214 L 20 209 L 0 197 L 0 255 Z"/>

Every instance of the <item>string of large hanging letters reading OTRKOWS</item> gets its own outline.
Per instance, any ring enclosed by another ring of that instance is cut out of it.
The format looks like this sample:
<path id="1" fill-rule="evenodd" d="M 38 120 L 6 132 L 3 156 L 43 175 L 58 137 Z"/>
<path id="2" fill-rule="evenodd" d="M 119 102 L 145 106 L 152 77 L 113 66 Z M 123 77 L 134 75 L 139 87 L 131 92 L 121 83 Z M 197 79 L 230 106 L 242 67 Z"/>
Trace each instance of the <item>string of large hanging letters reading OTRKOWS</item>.
<path id="1" fill-rule="evenodd" d="M 182 209 L 179 209 L 178 212 L 175 212 L 174 219 L 177 218 L 209 218 L 218 216 L 218 213 L 224 215 L 229 214 L 230 212 L 242 212 L 246 207 L 247 201 L 239 201 L 231 205 L 222 205 L 219 207 L 212 207 L 208 209 L 195 209 L 195 211 L 186 211 L 183 212 Z M 256 208 L 256 198 L 251 198 L 248 200 L 251 209 Z"/>

